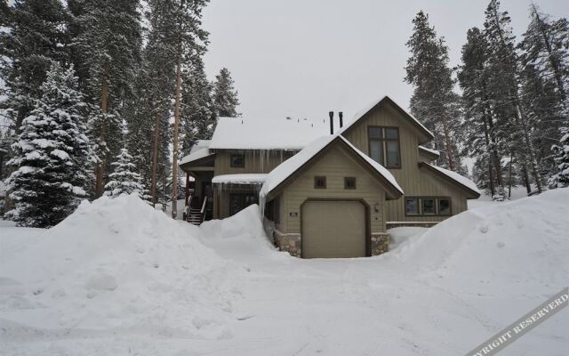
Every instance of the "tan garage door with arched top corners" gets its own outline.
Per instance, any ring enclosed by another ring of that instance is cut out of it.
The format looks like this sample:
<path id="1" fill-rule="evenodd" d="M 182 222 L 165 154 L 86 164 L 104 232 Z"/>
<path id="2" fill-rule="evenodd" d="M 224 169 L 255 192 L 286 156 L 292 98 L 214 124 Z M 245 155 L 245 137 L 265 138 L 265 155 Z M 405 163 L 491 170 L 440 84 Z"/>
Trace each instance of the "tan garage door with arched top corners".
<path id="1" fill-rule="evenodd" d="M 304 258 L 365 256 L 365 207 L 358 201 L 308 201 L 302 206 Z"/>

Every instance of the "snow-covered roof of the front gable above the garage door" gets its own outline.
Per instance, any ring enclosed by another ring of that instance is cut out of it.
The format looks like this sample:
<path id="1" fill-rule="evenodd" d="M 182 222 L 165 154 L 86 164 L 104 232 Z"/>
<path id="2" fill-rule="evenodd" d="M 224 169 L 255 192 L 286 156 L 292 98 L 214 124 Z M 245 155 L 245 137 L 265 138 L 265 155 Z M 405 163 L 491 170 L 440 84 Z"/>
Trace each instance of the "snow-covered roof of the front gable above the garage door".
<path id="1" fill-rule="evenodd" d="M 274 190 L 280 183 L 284 182 L 284 180 L 296 172 L 301 166 L 304 166 L 311 158 L 317 155 L 318 152 L 324 150 L 326 146 L 332 143 L 334 140 L 341 140 L 342 142 L 346 143 L 351 150 L 354 150 L 357 155 L 361 158 L 364 158 L 365 161 L 373 167 L 373 169 L 380 174 L 387 182 L 395 190 L 398 190 L 401 194 L 403 194 L 403 190 L 397 184 L 395 177 L 389 173 L 389 171 L 384 167 L 381 166 L 379 163 L 375 162 L 372 158 L 369 158 L 365 153 L 360 150 L 357 150 L 354 145 L 352 145 L 348 140 L 342 137 L 340 134 L 331 134 L 327 136 L 320 137 L 315 142 L 309 144 L 309 146 L 305 147 L 299 153 L 294 155 L 292 158 L 285 160 L 280 165 L 276 166 L 267 176 L 263 187 L 260 190 L 259 196 L 260 198 L 266 198 L 268 193 L 271 190 Z"/>

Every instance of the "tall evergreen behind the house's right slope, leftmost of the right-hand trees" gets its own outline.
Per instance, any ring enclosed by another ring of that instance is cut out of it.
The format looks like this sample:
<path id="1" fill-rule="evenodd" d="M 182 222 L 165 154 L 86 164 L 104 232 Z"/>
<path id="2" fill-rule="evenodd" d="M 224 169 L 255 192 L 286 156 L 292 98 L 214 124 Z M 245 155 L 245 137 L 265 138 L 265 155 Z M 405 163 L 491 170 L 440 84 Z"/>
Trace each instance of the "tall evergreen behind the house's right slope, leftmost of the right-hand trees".
<path id="1" fill-rule="evenodd" d="M 407 42 L 411 56 L 405 66 L 405 81 L 414 86 L 411 112 L 435 135 L 435 148 L 444 153 L 439 164 L 454 171 L 461 166 L 455 142 L 460 98 L 453 92 L 448 47 L 442 37 L 437 38 L 425 12 L 417 13 L 413 25 Z"/>

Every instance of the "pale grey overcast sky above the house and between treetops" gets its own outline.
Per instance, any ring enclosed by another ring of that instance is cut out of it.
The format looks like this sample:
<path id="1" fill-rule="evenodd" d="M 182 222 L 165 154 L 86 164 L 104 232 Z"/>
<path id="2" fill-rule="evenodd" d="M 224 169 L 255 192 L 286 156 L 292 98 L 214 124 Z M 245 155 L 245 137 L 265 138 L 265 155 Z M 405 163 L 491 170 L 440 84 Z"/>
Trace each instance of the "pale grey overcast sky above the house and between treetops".
<path id="1" fill-rule="evenodd" d="M 460 61 L 469 28 L 482 27 L 487 0 L 212 0 L 204 11 L 210 32 L 208 76 L 227 67 L 244 117 L 327 117 L 357 110 L 383 94 L 405 108 L 413 88 L 403 82 L 405 42 L 414 15 L 429 13 L 445 36 L 451 64 Z M 520 36 L 529 0 L 502 0 Z M 567 0 L 537 0 L 543 12 L 569 16 Z"/>

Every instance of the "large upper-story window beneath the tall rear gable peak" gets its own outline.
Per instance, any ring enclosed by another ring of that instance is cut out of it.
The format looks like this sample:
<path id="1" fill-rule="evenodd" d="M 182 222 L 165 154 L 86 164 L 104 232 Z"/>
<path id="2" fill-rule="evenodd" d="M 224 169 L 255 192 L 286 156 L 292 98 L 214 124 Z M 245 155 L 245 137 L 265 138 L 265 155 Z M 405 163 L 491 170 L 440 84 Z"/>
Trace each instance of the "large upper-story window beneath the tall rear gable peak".
<path id="1" fill-rule="evenodd" d="M 399 128 L 369 126 L 367 128 L 370 157 L 388 168 L 401 168 Z"/>

